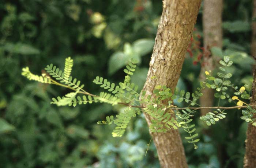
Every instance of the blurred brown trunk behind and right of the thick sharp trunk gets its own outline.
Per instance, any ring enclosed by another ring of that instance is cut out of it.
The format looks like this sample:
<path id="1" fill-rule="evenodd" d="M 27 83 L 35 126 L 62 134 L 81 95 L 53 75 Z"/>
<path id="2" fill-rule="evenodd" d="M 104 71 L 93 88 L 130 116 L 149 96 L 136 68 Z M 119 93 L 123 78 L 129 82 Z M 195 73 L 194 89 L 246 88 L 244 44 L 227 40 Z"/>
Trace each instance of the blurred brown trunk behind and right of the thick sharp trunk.
<path id="1" fill-rule="evenodd" d="M 214 57 L 207 53 L 213 46 L 222 48 L 222 0 L 204 0 L 203 34 L 205 54 L 199 75 L 200 81 L 206 80 L 205 71 L 213 71 L 215 68 Z M 205 88 L 202 93 L 203 96 L 199 99 L 200 105 L 203 107 L 212 106 L 214 90 Z M 205 115 L 208 112 L 208 109 L 202 109 L 201 115 Z"/>

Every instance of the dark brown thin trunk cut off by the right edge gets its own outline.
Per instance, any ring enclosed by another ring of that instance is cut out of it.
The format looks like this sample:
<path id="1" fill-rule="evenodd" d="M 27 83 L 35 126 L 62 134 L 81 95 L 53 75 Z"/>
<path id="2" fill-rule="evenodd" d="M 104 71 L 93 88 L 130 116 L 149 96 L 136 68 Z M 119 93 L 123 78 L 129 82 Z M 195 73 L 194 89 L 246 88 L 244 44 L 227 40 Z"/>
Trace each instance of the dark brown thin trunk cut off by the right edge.
<path id="1" fill-rule="evenodd" d="M 256 0 L 253 1 L 251 54 L 256 60 Z M 256 105 L 256 69 L 253 67 L 251 104 Z M 256 117 L 256 116 L 255 116 Z M 256 126 L 248 124 L 245 140 L 244 168 L 256 168 Z"/>

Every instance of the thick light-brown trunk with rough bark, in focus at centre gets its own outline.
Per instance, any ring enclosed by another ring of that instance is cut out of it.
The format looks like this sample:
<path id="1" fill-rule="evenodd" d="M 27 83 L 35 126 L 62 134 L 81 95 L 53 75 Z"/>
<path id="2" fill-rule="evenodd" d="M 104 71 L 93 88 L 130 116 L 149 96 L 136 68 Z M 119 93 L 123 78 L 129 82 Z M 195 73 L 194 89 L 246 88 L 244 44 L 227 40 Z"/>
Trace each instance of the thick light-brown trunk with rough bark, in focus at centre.
<path id="1" fill-rule="evenodd" d="M 163 0 L 163 12 L 143 88 L 146 95 L 153 95 L 157 85 L 166 85 L 172 90 L 176 87 L 200 4 L 201 0 Z M 157 78 L 151 79 L 153 76 Z M 144 115 L 150 125 L 150 116 Z M 162 168 L 188 167 L 178 130 L 150 134 Z"/>

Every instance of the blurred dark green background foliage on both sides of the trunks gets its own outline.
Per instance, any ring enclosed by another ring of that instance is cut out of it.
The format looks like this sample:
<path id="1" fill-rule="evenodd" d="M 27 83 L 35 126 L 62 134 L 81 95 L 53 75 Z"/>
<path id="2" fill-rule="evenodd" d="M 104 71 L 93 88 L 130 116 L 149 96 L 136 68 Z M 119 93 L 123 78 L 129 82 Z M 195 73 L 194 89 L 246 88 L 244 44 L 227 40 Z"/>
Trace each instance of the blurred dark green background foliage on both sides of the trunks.
<path id="1" fill-rule="evenodd" d="M 231 56 L 233 82 L 247 89 L 252 83 L 251 4 L 224 1 L 223 50 L 211 50 Z M 72 76 L 97 94 L 102 90 L 93 85 L 95 76 L 119 82 L 123 67 L 136 58 L 139 67 L 132 81 L 142 89 L 161 12 L 159 0 L 0 0 L 0 167 L 159 168 L 153 143 L 144 156 L 150 135 L 143 115 L 133 119 L 125 136 L 113 138 L 111 125 L 96 123 L 123 107 L 57 108 L 50 98 L 67 89 L 27 81 L 20 73 L 29 66 L 41 74 L 49 63 L 63 68 L 65 58 L 72 56 Z M 198 47 L 201 36 L 202 9 L 193 35 Z M 178 89 L 193 91 L 198 86 L 201 51 L 194 49 L 186 56 Z M 202 135 L 199 148 L 184 143 L 190 168 L 242 167 L 247 125 L 240 116 L 230 110 L 211 128 L 196 121 Z"/>

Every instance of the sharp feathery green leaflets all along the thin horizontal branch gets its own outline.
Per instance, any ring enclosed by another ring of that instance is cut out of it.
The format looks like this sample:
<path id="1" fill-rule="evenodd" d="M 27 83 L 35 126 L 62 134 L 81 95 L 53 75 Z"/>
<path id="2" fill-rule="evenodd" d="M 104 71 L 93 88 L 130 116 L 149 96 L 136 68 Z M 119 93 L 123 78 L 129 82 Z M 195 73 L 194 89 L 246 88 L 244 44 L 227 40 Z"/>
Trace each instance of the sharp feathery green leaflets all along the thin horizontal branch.
<path id="1" fill-rule="evenodd" d="M 233 64 L 233 61 L 230 60 L 229 56 L 224 56 L 223 60 L 220 60 L 219 63 L 223 67 L 219 67 L 221 72 L 217 73 L 217 76 L 219 78 L 212 77 L 208 71 L 206 71 L 206 82 L 201 82 L 200 87 L 197 87 L 195 90 L 195 93 L 185 93 L 185 90 L 181 90 L 180 93 L 178 91 L 175 91 L 175 94 L 172 93 L 172 91 L 167 88 L 166 86 L 156 86 L 153 93 L 154 96 L 148 95 L 145 97 L 145 92 L 142 94 L 138 93 L 138 86 L 135 85 L 135 83 L 130 83 L 131 77 L 135 71 L 136 63 L 138 63 L 136 60 L 131 59 L 131 62 L 126 66 L 126 69 L 124 69 L 125 78 L 124 82 L 120 82 L 119 85 L 115 85 L 114 83 L 110 83 L 107 79 L 103 79 L 102 77 L 96 77 L 94 79 L 94 83 L 96 85 L 100 85 L 103 89 L 108 90 L 110 93 L 101 92 L 99 96 L 90 94 L 89 92 L 82 89 L 84 85 L 80 85 L 80 81 L 76 82 L 76 79 L 72 81 L 72 77 L 70 76 L 73 66 L 73 60 L 69 57 L 65 60 L 65 69 L 64 73 L 62 73 L 61 70 L 56 68 L 56 66 L 48 65 L 45 70 L 49 73 L 53 78 L 56 80 L 59 80 L 60 83 L 52 80 L 52 83 L 55 85 L 60 85 L 64 87 L 68 87 L 69 89 L 75 90 L 75 92 L 68 93 L 65 95 L 65 97 L 57 97 L 53 98 L 53 104 L 56 104 L 58 106 L 65 106 L 65 105 L 73 105 L 76 106 L 77 104 L 86 104 L 87 102 L 93 103 L 93 102 L 104 102 L 114 105 L 126 105 L 128 106 L 125 108 L 124 112 L 121 112 L 116 115 L 116 119 L 114 119 L 113 116 L 106 117 L 106 121 L 98 121 L 98 124 L 116 124 L 116 127 L 114 128 L 112 132 L 113 137 L 121 137 L 123 136 L 125 129 L 128 126 L 128 123 L 130 122 L 132 117 L 136 116 L 136 112 L 139 114 L 140 110 L 138 110 L 137 107 L 137 101 L 140 102 L 139 96 L 142 97 L 142 104 L 146 105 L 143 110 L 145 113 L 147 113 L 149 116 L 151 116 L 151 125 L 150 125 L 150 131 L 156 132 L 156 133 L 166 133 L 170 129 L 178 129 L 179 127 L 182 127 L 185 132 L 188 133 L 189 136 L 185 137 L 185 139 L 188 140 L 189 143 L 193 143 L 194 148 L 197 149 L 198 146 L 195 145 L 196 142 L 199 142 L 198 133 L 195 133 L 196 128 L 195 124 L 190 123 L 193 121 L 192 113 L 195 113 L 195 110 L 191 110 L 189 106 L 195 106 L 199 105 L 197 104 L 197 100 L 200 96 L 203 94 L 201 93 L 201 90 L 205 88 L 205 86 L 215 89 L 219 93 L 215 93 L 214 96 L 220 99 L 225 99 L 226 97 L 231 99 L 230 96 L 226 93 L 228 90 L 227 87 L 231 87 L 233 89 L 236 89 L 233 85 L 231 85 L 231 82 L 229 79 L 232 77 L 231 73 L 226 73 L 225 67 L 230 67 Z M 25 73 L 25 70 L 23 69 L 23 75 L 27 77 L 27 73 Z M 29 72 L 29 74 L 31 74 Z M 39 77 L 38 77 L 39 78 Z M 38 78 L 29 78 L 34 79 L 35 81 L 38 81 Z M 47 78 L 49 79 L 49 78 Z M 154 80 L 154 79 L 153 79 Z M 208 83 L 212 82 L 212 83 Z M 65 85 L 61 84 L 64 83 Z M 71 87 L 72 86 L 72 87 Z M 81 97 L 76 97 L 77 94 L 85 94 L 88 97 L 88 101 L 85 95 L 83 95 L 83 99 Z M 242 94 L 243 98 L 248 97 L 249 95 L 245 91 L 245 87 L 241 87 L 241 89 L 238 91 L 239 94 Z M 93 96 L 93 99 L 92 99 Z M 185 97 L 184 97 L 185 96 Z M 192 97 L 192 100 L 190 99 Z M 186 103 L 189 103 L 188 107 L 185 109 L 182 109 L 182 113 L 178 110 L 176 106 L 173 106 L 173 100 L 177 98 L 177 102 L 181 103 L 183 100 L 185 100 Z M 234 99 L 238 99 L 237 97 L 233 97 Z M 167 100 L 168 105 L 166 106 L 162 102 Z M 238 102 L 237 105 L 242 105 L 242 101 Z M 199 105 L 200 106 L 200 105 Z M 173 108 L 175 107 L 175 108 Z M 250 106 L 248 106 L 250 107 Z M 252 109 L 252 108 L 250 108 Z M 250 110 L 251 113 L 254 113 L 255 110 Z M 253 122 L 251 118 L 253 118 L 253 114 L 249 113 L 249 111 L 243 110 L 244 116 L 241 117 L 247 122 Z M 176 117 L 174 118 L 174 114 L 176 114 Z M 208 126 L 215 124 L 215 122 L 219 121 L 219 119 L 225 118 L 226 113 L 224 113 L 224 110 L 221 111 L 220 109 L 217 109 L 217 111 L 209 112 L 205 116 L 201 116 L 200 120 L 206 122 Z M 255 124 L 254 124 L 255 125 Z"/>

